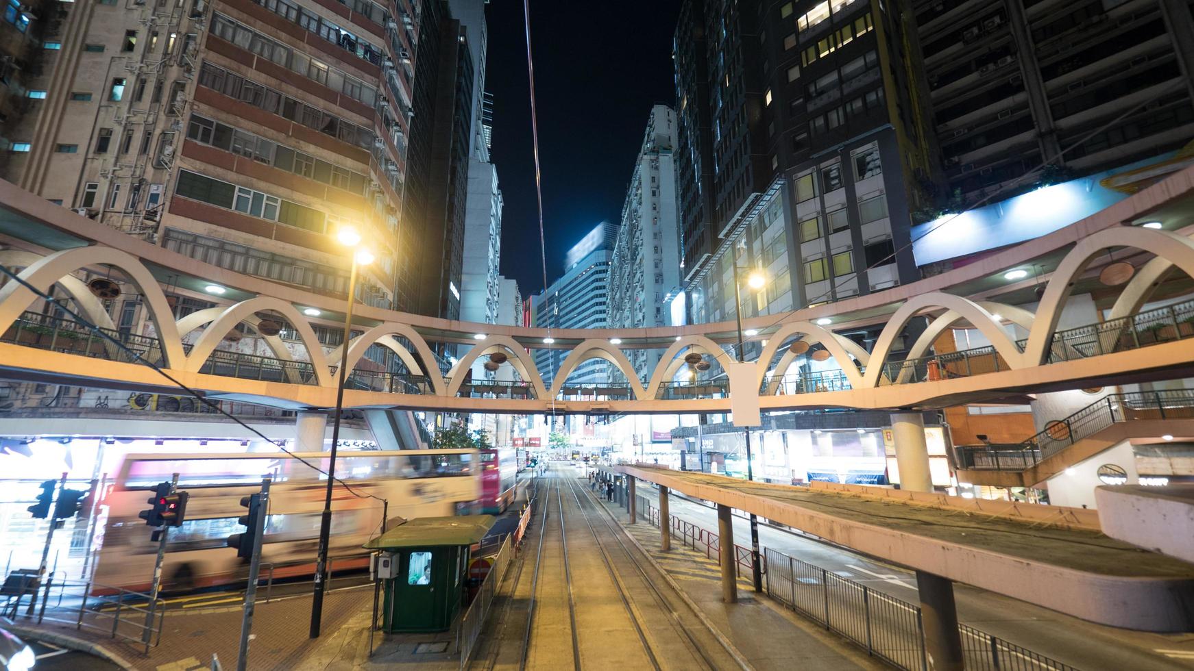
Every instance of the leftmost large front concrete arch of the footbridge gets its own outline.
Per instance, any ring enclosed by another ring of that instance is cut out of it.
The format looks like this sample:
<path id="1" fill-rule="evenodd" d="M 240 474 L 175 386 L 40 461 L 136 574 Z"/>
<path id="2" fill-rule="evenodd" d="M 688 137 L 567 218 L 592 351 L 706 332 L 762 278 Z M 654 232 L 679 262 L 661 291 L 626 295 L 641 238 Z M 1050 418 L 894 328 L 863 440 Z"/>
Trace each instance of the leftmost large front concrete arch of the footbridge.
<path id="1" fill-rule="evenodd" d="M 183 352 L 183 343 L 178 337 L 178 329 L 174 327 L 173 310 L 170 309 L 170 303 L 158 285 L 158 279 L 136 256 L 111 247 L 75 247 L 38 259 L 21 271 L 18 277 L 37 291 L 44 292 L 50 288 L 50 285 L 70 273 L 93 266 L 117 268 L 141 292 L 149 311 L 149 318 L 153 319 L 154 328 L 158 330 L 158 338 L 166 358 L 166 367 L 183 367 L 186 362 L 186 354 Z M 0 287 L 0 333 L 7 330 L 35 298 L 37 296 L 20 282 L 10 281 Z"/>

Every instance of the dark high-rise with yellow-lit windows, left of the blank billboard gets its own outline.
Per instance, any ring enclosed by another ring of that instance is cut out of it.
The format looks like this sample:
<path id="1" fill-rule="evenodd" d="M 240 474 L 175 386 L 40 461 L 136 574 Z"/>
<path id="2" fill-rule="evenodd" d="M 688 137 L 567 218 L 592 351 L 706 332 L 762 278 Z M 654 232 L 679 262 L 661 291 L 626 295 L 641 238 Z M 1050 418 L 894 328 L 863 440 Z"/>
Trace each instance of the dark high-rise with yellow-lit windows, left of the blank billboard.
<path id="1" fill-rule="evenodd" d="M 790 248 L 793 307 L 919 277 L 912 212 L 933 205 L 940 170 L 916 27 L 899 5 L 759 4 L 762 123 L 789 212 L 763 253 Z"/>

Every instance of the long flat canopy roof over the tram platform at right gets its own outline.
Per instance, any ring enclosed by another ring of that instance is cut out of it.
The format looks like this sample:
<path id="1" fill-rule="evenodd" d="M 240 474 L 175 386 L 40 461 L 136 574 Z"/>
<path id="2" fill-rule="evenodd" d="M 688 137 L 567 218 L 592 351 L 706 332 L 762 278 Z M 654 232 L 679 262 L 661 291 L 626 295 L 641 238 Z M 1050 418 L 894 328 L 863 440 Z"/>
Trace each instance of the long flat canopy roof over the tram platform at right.
<path id="1" fill-rule="evenodd" d="M 1107 538 L 1082 518 L 1090 511 L 983 511 L 943 501 L 953 497 L 917 501 L 882 487 L 770 485 L 647 465 L 608 470 L 1091 622 L 1194 628 L 1194 565 Z"/>

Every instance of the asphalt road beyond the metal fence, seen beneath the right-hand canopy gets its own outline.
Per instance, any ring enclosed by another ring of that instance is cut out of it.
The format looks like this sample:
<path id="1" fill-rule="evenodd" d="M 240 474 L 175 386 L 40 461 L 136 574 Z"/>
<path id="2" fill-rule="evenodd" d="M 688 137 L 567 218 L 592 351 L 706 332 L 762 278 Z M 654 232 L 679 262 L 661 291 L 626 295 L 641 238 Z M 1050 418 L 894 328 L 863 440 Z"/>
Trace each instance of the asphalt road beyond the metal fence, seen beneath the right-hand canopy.
<path id="1" fill-rule="evenodd" d="M 658 499 L 654 489 L 640 486 L 639 495 Z M 713 532 L 718 528 L 716 511 L 707 504 L 672 495 L 670 508 L 682 520 Z M 734 542 L 750 547 L 745 516 L 734 518 Z M 917 602 L 916 576 L 906 569 L 765 524 L 759 524 L 759 546 Z M 1083 671 L 1194 669 L 1194 633 L 1152 634 L 1106 627 L 964 584 L 955 584 L 954 594 L 961 622 Z"/>

